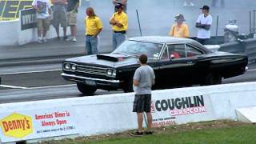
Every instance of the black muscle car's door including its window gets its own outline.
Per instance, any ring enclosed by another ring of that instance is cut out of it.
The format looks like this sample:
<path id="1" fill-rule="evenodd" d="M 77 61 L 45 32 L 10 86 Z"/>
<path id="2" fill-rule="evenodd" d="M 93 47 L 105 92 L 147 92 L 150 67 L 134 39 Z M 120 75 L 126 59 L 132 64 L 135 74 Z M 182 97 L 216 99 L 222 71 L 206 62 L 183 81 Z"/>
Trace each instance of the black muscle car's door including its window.
<path id="1" fill-rule="evenodd" d="M 165 86 L 190 85 L 194 74 L 194 58 L 189 57 L 185 43 L 167 44 L 162 52 L 159 71 Z"/>

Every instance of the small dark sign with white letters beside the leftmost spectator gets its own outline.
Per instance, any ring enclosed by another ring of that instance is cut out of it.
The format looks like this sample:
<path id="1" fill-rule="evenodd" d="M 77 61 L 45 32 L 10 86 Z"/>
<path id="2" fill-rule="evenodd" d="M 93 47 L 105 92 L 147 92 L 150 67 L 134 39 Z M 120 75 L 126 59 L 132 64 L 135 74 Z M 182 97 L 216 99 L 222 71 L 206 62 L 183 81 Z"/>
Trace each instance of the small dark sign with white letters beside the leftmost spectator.
<path id="1" fill-rule="evenodd" d="M 21 10 L 21 29 L 27 30 L 37 27 L 37 14 L 34 9 Z"/>

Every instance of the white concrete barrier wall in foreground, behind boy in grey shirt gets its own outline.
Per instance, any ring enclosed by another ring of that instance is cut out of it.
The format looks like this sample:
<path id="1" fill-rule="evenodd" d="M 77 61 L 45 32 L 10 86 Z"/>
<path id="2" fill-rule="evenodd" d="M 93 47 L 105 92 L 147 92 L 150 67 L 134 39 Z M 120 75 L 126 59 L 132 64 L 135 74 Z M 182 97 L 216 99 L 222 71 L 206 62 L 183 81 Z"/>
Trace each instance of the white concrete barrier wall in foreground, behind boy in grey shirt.
<path id="1" fill-rule="evenodd" d="M 256 82 L 155 90 L 151 105 L 154 126 L 218 119 L 234 120 L 236 119 L 235 109 L 256 106 L 255 95 Z M 62 127 L 42 127 L 40 126 L 42 119 L 35 119 L 35 114 L 51 114 L 63 110 L 66 110 L 70 116 L 66 119 L 62 118 L 67 121 L 62 126 L 74 127 L 70 134 L 88 136 L 132 130 L 137 127 L 136 114 L 131 112 L 133 101 L 134 94 L 130 93 L 1 104 L 0 126 L 1 122 L 8 122 L 8 119 L 11 118 L 13 118 L 12 120 L 21 118 L 17 114 L 22 114 L 32 119 L 33 132 L 22 138 L 13 138 L 1 130 L 0 139 L 2 142 L 13 142 L 31 139 L 31 136 L 46 138 L 46 135 L 49 136 L 53 132 L 37 134 L 36 131 L 62 130 Z M 49 120 L 43 119 L 43 121 Z M 144 126 L 146 126 L 145 123 Z M 54 132 L 52 135 L 68 134 L 69 131 L 59 134 Z"/>

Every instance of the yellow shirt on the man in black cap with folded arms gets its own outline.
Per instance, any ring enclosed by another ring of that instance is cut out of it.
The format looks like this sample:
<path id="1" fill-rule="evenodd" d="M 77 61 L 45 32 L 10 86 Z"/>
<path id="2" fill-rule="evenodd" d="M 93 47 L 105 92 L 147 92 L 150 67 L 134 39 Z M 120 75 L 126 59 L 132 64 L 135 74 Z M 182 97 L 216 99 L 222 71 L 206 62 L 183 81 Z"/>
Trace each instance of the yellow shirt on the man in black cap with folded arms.
<path id="1" fill-rule="evenodd" d="M 128 17 L 126 13 L 124 13 L 123 11 L 121 14 L 118 14 L 118 12 L 115 12 L 110 19 L 112 18 L 114 18 L 115 21 L 123 25 L 122 27 L 112 25 L 112 30 L 114 31 L 128 30 Z"/>

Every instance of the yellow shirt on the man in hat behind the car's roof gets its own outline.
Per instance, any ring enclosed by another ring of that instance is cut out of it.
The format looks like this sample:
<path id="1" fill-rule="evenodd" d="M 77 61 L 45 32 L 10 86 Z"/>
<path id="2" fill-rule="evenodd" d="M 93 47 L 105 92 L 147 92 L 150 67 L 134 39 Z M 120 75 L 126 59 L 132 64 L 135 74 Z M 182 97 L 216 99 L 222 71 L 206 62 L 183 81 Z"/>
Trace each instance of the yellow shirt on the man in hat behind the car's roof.
<path id="1" fill-rule="evenodd" d="M 184 23 L 181 26 L 178 26 L 177 24 L 175 24 L 171 27 L 169 35 L 177 38 L 189 38 L 190 37 L 189 26 L 187 26 Z"/>

